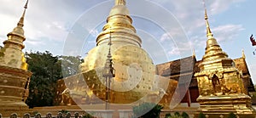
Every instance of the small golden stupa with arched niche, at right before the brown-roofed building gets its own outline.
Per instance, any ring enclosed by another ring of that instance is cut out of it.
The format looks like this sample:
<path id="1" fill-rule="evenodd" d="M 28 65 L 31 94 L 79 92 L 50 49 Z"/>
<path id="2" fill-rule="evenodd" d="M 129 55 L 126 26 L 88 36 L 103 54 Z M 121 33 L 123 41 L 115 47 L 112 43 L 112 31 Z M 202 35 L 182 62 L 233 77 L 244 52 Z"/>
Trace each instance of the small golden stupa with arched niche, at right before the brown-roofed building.
<path id="1" fill-rule="evenodd" d="M 243 85 L 242 74 L 213 37 L 208 23 L 207 9 L 205 9 L 205 20 L 207 48 L 199 64 L 200 72 L 195 73 L 200 94 L 197 98 L 200 104 L 198 111 L 209 117 L 219 117 L 219 115 L 226 117 L 225 115 L 233 112 L 239 117 L 254 118 L 255 111 Z"/>

